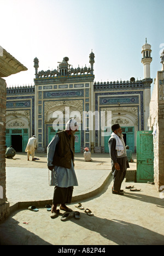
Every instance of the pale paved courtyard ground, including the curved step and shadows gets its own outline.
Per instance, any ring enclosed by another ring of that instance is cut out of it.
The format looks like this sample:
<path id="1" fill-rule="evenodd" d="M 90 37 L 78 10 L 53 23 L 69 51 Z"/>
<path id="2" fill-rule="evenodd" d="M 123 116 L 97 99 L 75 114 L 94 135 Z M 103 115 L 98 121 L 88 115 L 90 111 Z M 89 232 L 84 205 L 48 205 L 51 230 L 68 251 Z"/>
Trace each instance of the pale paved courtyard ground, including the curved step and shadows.
<path id="1" fill-rule="evenodd" d="M 114 195 L 109 155 L 93 154 L 93 162 L 84 162 L 83 154 L 76 154 L 79 186 L 74 187 L 69 207 L 77 211 L 75 205 L 81 202 L 94 215 L 78 210 L 80 219 L 62 222 L 63 211 L 51 219 L 45 208 L 53 192 L 48 185 L 46 154 L 37 153 L 36 158 L 36 162 L 27 162 L 21 153 L 15 160 L 7 159 L 7 197 L 13 211 L 0 224 L 1 245 L 164 245 L 164 201 L 155 185 L 124 180 L 125 194 Z M 130 163 L 130 170 L 135 168 L 136 159 Z M 127 185 L 141 190 L 130 191 Z M 31 203 L 36 203 L 38 212 L 27 209 Z"/>

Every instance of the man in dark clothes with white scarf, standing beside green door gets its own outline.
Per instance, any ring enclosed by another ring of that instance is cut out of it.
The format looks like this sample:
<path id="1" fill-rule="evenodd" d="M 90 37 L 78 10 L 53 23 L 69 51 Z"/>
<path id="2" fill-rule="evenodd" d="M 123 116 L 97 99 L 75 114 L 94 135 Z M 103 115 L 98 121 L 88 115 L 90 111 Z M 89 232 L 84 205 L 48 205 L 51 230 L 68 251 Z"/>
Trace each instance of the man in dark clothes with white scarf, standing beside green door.
<path id="1" fill-rule="evenodd" d="M 130 166 L 128 165 L 125 142 L 120 125 L 113 125 L 112 131 L 113 132 L 108 141 L 109 154 L 112 162 L 112 174 L 114 176 L 112 193 L 124 195 L 124 190 L 121 190 L 121 184 L 125 178 L 126 169 Z"/>

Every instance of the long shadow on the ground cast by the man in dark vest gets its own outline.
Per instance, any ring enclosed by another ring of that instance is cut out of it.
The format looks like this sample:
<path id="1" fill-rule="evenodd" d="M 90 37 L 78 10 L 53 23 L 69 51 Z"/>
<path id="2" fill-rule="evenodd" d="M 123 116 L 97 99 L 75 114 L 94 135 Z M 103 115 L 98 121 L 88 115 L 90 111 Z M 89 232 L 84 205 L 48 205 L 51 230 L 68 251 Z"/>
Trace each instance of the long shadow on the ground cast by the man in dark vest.
<path id="1" fill-rule="evenodd" d="M 107 241 L 107 245 L 113 244 L 110 241 L 114 242 L 116 245 L 164 245 L 163 235 L 137 224 L 118 219 L 109 220 L 96 216 L 90 217 L 82 212 L 79 220 L 72 218 L 67 221 L 72 221 L 79 226 L 83 226 L 85 229 L 97 232 L 102 237 L 109 240 Z M 92 245 L 96 245 L 94 241 L 96 240 L 94 240 L 93 237 Z"/>

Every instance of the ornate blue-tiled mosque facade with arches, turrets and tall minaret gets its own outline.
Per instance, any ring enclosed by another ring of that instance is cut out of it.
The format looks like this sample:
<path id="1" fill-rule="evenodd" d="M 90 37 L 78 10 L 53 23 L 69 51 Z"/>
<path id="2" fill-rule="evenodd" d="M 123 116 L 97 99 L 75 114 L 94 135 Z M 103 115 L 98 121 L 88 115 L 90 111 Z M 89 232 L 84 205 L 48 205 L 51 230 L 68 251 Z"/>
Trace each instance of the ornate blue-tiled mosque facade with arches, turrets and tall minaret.
<path id="1" fill-rule="evenodd" d="M 57 131 L 65 129 L 69 118 L 79 123 L 75 152 L 89 147 L 91 152 L 108 153 L 111 125 L 120 124 L 125 143 L 136 152 L 137 131 L 149 130 L 151 45 L 142 46 L 144 78 L 114 82 L 94 82 L 95 54 L 90 67 L 73 68 L 68 57 L 53 71 L 39 71 L 34 59 L 34 86 L 7 88 L 6 145 L 25 152 L 28 138 L 35 135 L 38 152 L 45 152 Z"/>

